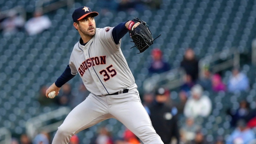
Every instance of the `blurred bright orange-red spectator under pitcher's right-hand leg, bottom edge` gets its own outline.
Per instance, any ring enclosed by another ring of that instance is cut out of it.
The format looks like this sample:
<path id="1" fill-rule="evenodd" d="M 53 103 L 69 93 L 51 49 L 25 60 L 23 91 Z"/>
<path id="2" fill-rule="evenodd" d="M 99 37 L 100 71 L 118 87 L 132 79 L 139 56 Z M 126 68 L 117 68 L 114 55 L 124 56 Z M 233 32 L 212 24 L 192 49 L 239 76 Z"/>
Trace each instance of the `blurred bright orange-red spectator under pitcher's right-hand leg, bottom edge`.
<path id="1" fill-rule="evenodd" d="M 115 144 L 140 144 L 140 141 L 133 132 L 126 129 L 123 133 L 123 140 L 116 140 Z"/>

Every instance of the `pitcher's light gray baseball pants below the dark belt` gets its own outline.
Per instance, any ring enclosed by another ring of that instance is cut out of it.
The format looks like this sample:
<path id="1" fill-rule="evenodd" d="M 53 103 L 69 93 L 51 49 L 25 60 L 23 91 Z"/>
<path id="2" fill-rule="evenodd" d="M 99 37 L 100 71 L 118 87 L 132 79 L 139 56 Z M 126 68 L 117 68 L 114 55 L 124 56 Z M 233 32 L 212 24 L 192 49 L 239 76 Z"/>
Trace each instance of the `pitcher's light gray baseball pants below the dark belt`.
<path id="1" fill-rule="evenodd" d="M 164 144 L 152 127 L 136 89 L 107 96 L 90 93 L 58 127 L 52 144 L 68 144 L 73 135 L 109 118 L 119 120 L 144 144 Z"/>

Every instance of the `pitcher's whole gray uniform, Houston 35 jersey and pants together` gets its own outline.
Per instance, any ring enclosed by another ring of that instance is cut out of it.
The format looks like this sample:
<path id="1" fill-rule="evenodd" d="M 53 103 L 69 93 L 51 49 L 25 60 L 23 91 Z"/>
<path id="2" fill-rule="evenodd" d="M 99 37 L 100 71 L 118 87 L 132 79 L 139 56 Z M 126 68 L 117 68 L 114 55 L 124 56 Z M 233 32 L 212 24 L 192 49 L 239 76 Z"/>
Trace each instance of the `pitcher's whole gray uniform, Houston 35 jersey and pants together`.
<path id="1" fill-rule="evenodd" d="M 134 77 L 120 49 L 121 40 L 115 44 L 112 30 L 97 28 L 85 45 L 77 42 L 74 46 L 69 61 L 71 73 L 79 73 L 91 93 L 58 127 L 52 144 L 68 144 L 72 135 L 109 118 L 119 120 L 144 144 L 164 144 L 141 104 Z"/>

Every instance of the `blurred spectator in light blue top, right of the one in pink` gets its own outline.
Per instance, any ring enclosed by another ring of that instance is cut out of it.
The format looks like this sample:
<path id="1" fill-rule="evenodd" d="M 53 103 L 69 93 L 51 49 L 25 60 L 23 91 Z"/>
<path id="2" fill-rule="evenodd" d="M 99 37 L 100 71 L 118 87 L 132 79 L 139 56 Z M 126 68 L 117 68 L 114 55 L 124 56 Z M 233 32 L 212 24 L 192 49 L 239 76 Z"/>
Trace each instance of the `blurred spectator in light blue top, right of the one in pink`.
<path id="1" fill-rule="evenodd" d="M 238 68 L 232 70 L 232 76 L 228 81 L 228 91 L 246 91 L 249 89 L 249 80 L 244 73 L 241 73 Z"/>

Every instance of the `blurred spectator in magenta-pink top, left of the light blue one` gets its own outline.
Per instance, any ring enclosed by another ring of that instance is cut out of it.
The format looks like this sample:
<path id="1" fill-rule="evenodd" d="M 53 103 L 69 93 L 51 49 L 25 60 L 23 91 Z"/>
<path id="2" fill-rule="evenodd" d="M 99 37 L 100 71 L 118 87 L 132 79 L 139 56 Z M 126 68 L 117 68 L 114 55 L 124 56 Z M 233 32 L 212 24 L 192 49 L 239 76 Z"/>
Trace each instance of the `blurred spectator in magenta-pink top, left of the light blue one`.
<path id="1" fill-rule="evenodd" d="M 214 74 L 211 78 L 213 92 L 225 91 L 226 85 L 222 82 L 219 74 Z"/>

